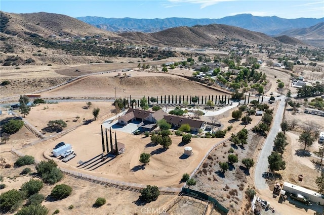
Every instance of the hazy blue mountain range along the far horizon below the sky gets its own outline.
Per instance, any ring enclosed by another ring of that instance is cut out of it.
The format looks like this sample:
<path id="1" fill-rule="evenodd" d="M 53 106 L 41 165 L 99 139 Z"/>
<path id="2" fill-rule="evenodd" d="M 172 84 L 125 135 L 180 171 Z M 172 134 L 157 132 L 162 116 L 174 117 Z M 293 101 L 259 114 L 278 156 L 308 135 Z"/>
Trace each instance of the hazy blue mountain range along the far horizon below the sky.
<path id="1" fill-rule="evenodd" d="M 239 14 L 221 19 L 190 19 L 190 18 L 165 18 L 165 19 L 133 19 L 133 18 L 104 18 L 104 17 L 77 17 L 95 27 L 112 32 L 145 32 L 152 33 L 173 27 L 209 24 L 224 24 L 250 31 L 265 33 L 269 36 L 281 35 L 282 32 L 308 28 L 324 22 L 324 18 L 298 18 L 284 19 L 276 16 L 260 17 L 251 14 Z"/>

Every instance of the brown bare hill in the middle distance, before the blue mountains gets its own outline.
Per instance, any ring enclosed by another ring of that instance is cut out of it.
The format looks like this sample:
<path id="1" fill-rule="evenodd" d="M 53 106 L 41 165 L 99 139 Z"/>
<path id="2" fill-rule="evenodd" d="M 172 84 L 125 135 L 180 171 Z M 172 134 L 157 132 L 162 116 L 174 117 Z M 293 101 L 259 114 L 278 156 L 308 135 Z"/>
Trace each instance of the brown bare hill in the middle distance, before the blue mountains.
<path id="1" fill-rule="evenodd" d="M 145 43 L 154 45 L 164 44 L 189 47 L 222 46 L 231 41 L 242 41 L 251 44 L 276 44 L 279 42 L 263 33 L 218 24 L 175 27 L 155 33 L 130 32 L 118 35 L 129 40 L 145 41 Z"/>

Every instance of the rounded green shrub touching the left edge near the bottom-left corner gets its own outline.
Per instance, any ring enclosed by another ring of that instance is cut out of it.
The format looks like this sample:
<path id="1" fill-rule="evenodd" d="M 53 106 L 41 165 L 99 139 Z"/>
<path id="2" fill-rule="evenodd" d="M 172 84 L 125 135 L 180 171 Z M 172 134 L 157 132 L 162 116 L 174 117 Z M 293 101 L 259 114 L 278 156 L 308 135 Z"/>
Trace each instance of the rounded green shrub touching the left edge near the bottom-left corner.
<path id="1" fill-rule="evenodd" d="M 6 213 L 10 210 L 17 209 L 21 205 L 24 197 L 24 192 L 15 189 L 2 193 L 0 195 L 1 211 Z"/>

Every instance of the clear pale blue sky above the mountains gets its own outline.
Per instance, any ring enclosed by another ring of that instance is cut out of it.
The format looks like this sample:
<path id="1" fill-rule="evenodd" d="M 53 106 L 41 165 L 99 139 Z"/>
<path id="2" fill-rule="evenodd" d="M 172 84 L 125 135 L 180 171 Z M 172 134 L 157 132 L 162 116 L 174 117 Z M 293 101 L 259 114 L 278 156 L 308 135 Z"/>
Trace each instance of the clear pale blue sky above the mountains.
<path id="1" fill-rule="evenodd" d="M 322 18 L 324 1 L 267 1 L 267 0 L 99 0 L 63 1 L 1 0 L 0 10 L 9 13 L 47 12 L 70 17 L 98 16 L 106 18 L 210 18 L 236 14 L 277 16 L 280 18 Z"/>

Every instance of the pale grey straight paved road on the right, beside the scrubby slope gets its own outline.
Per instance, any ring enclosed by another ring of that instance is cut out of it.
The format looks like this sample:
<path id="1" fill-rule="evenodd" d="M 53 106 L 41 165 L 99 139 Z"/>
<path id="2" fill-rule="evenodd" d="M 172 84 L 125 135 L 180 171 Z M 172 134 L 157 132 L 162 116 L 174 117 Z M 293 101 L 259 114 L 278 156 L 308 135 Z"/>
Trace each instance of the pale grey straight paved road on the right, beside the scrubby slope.
<path id="1" fill-rule="evenodd" d="M 254 183 L 256 189 L 262 190 L 269 188 L 265 181 L 265 173 L 268 171 L 268 156 L 271 154 L 273 148 L 273 140 L 277 135 L 280 129 L 280 123 L 282 121 L 282 116 L 284 115 L 285 111 L 285 97 L 280 97 L 281 101 L 279 103 L 277 112 L 274 115 L 274 120 L 272 122 L 272 127 L 268 136 L 264 142 L 260 155 L 258 157 L 257 165 L 254 172 Z"/>

